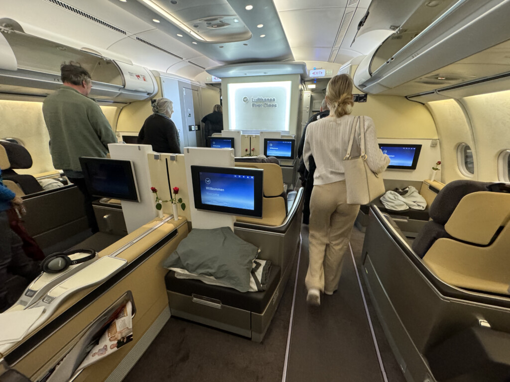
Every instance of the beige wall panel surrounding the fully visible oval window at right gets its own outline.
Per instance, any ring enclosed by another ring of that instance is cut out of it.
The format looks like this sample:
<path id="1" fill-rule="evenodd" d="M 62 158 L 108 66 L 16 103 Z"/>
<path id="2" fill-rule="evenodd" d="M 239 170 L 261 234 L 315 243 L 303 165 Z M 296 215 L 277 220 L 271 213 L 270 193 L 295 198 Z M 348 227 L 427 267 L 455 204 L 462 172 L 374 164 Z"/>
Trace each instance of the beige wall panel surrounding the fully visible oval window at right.
<path id="1" fill-rule="evenodd" d="M 453 99 L 433 101 L 426 104 L 436 121 L 441 145 L 441 180 L 448 183 L 457 179 L 476 179 L 477 153 L 471 132 L 471 125 L 464 107 Z M 466 143 L 473 151 L 475 174 L 467 177 L 458 168 L 457 148 Z"/>

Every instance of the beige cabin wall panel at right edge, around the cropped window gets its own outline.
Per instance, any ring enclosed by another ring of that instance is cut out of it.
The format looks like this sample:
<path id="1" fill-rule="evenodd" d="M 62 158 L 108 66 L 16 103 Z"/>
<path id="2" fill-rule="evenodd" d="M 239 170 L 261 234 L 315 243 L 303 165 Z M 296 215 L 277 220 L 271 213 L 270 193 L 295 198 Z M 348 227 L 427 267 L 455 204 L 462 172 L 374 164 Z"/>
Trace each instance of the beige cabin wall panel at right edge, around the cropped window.
<path id="1" fill-rule="evenodd" d="M 510 91 L 461 98 L 471 120 L 476 151 L 475 175 L 484 182 L 497 182 L 498 156 L 510 149 Z"/>

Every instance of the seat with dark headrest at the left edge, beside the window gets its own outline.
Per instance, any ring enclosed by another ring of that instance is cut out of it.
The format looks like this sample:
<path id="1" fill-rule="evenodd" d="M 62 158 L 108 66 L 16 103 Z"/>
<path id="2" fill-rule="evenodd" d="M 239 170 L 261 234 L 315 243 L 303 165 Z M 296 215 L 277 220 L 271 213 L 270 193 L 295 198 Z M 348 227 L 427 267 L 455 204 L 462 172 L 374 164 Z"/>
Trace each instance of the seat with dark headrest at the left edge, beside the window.
<path id="1" fill-rule="evenodd" d="M 4 180 L 8 181 L 6 186 L 13 187 L 12 183 L 10 182 L 15 183 L 19 187 L 19 189 L 13 189 L 15 193 L 17 191 L 16 195 L 19 194 L 19 190 L 21 190 L 23 195 L 34 194 L 43 191 L 42 186 L 39 184 L 35 177 L 32 175 L 21 175 L 14 171 L 15 169 L 30 169 L 32 167 L 32 156 L 28 150 L 21 145 L 7 141 L 0 141 L 0 145 L 5 149 L 5 153 L 4 150 L 2 150 L 0 156 L 6 155 L 9 162 L 9 167 L 2 169 L 2 176 Z"/>

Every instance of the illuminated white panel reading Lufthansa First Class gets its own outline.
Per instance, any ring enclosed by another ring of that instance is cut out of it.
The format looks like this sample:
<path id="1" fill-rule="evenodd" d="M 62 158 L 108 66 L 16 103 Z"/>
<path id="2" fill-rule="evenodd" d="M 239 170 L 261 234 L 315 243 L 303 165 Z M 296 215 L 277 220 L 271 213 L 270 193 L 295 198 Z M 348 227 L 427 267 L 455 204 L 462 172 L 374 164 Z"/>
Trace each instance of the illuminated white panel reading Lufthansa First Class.
<path id="1" fill-rule="evenodd" d="M 227 84 L 230 130 L 290 130 L 291 81 Z"/>

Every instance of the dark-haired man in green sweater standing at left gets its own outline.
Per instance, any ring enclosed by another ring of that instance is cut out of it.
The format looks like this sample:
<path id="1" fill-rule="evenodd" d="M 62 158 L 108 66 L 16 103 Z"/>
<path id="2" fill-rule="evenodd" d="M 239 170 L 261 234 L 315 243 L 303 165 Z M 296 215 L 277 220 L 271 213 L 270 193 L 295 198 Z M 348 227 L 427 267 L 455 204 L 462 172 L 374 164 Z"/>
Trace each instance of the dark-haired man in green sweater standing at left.
<path id="1" fill-rule="evenodd" d="M 62 64 L 60 71 L 63 86 L 42 103 L 53 166 L 62 169 L 83 193 L 89 226 L 92 232 L 97 232 L 92 197 L 85 185 L 79 158 L 105 158 L 108 144 L 116 143 L 117 139 L 99 105 L 88 97 L 92 88 L 89 72 L 72 62 Z"/>

